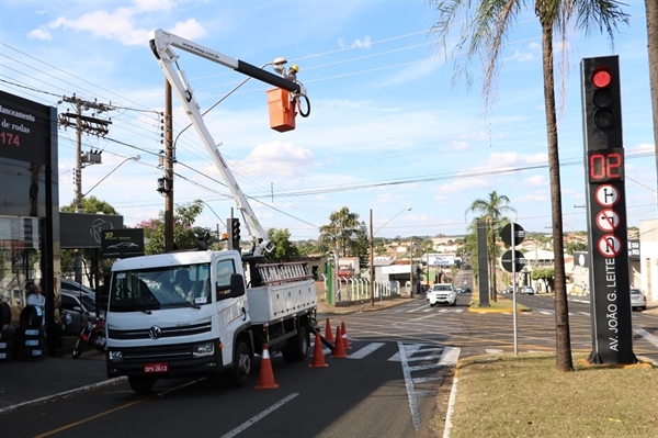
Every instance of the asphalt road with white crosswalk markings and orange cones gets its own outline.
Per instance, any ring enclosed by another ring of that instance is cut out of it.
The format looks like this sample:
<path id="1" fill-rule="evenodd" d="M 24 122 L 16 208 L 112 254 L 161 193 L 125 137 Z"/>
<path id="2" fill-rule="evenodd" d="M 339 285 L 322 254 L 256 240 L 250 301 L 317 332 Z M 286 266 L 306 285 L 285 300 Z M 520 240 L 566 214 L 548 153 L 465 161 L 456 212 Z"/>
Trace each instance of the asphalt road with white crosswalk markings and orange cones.
<path id="1" fill-rule="evenodd" d="M 548 295 L 518 296 L 533 312 L 518 314 L 519 352 L 555 351 L 555 313 Z M 436 437 L 442 436 L 458 357 L 513 352 L 511 313 L 468 311 L 470 294 L 456 306 L 426 300 L 378 312 L 337 315 L 348 329 L 348 359 L 328 367 L 285 363 L 272 357 L 275 390 L 252 384 L 232 389 L 223 379 L 161 381 L 152 395 L 127 383 L 77 393 L 4 415 L 3 436 L 94 437 Z M 591 350 L 589 304 L 569 303 L 575 352 Z M 324 319 L 320 319 L 324 328 Z M 633 314 L 634 350 L 658 361 L 655 315 Z M 638 329 L 638 330 L 637 330 Z M 332 330 L 332 332 L 333 332 Z M 322 330 L 324 333 L 324 330 Z M 313 351 L 313 349 L 311 349 Z"/>

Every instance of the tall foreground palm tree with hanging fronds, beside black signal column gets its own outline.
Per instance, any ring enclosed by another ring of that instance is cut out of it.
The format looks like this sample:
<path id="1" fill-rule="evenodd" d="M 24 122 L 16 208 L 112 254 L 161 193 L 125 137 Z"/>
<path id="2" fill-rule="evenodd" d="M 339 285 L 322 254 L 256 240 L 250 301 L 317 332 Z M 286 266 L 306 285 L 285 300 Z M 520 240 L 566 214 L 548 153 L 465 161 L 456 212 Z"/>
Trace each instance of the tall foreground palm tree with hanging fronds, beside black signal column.
<path id="1" fill-rule="evenodd" d="M 647 0 L 647 4 L 650 1 L 653 0 Z M 605 31 L 612 42 L 617 24 L 627 23 L 628 15 L 621 10 L 617 0 L 534 0 L 534 2 L 532 0 L 430 0 L 430 3 L 435 4 L 439 11 L 439 21 L 432 31 L 439 34 L 444 45 L 451 29 L 461 23 L 462 34 L 455 49 L 457 52 L 465 49 L 468 60 L 473 56 L 480 56 L 485 76 L 483 96 L 486 109 L 490 108 L 495 97 L 492 85 L 498 72 L 504 37 L 523 8 L 534 4 L 535 15 L 542 25 L 544 101 L 555 255 L 556 368 L 559 371 L 572 371 L 564 263 L 553 32 L 557 31 L 561 43 L 566 43 L 568 26 L 576 21 L 576 27 L 585 29 L 586 33 L 591 26 Z M 460 16 L 461 14 L 465 16 Z M 563 47 L 566 47 L 566 44 L 563 44 Z M 468 77 L 465 68 L 457 71 L 465 72 Z"/>

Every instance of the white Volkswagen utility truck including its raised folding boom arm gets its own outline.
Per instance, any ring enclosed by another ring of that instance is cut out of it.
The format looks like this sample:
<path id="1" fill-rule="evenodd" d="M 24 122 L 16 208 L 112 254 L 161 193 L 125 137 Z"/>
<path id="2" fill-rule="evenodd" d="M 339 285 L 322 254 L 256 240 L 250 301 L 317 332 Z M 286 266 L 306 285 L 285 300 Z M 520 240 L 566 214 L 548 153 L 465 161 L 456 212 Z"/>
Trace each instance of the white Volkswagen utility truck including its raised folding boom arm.
<path id="1" fill-rule="evenodd" d="M 271 243 L 205 126 L 174 47 L 306 97 L 283 77 L 161 30 L 150 47 L 192 125 L 219 169 L 253 238 L 251 251 L 180 251 L 118 260 L 112 267 L 106 312 L 107 377 L 126 375 L 149 392 L 158 379 L 228 373 L 248 383 L 256 353 L 266 346 L 286 361 L 304 360 L 315 329 L 316 290 L 306 262 L 264 263 Z M 275 60 L 276 61 L 276 60 Z"/>

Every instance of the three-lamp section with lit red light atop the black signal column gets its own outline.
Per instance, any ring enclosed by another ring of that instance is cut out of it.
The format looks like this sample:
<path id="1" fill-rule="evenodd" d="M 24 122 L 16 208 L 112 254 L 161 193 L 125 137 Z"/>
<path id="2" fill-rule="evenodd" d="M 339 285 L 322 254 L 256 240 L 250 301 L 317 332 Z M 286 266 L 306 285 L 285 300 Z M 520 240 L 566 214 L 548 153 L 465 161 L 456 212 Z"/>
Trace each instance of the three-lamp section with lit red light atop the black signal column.
<path id="1" fill-rule="evenodd" d="M 623 147 L 619 57 L 583 58 L 581 74 L 586 150 Z"/>

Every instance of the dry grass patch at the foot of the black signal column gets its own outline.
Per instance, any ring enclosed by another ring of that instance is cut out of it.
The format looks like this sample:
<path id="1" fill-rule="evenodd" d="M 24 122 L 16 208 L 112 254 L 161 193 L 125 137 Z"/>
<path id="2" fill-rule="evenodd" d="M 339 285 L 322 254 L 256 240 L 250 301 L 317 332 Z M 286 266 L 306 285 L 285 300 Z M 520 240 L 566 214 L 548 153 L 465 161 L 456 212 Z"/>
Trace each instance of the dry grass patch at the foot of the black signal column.
<path id="1" fill-rule="evenodd" d="M 648 363 L 592 366 L 574 356 L 574 372 L 555 355 L 462 359 L 451 438 L 657 437 L 658 369 Z"/>

